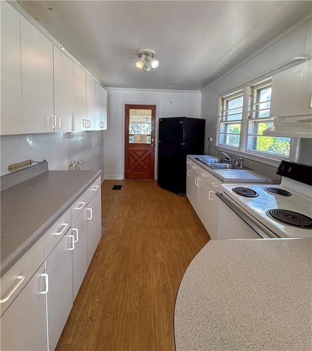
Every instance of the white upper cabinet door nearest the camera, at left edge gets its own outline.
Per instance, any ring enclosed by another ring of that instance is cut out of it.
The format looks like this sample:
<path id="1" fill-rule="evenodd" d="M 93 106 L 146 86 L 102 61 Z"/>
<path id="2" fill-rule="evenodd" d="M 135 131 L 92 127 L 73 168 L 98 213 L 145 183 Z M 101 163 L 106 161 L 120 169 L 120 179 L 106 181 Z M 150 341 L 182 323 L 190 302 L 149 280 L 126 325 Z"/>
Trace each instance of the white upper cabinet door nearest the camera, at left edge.
<path id="1" fill-rule="evenodd" d="M 20 14 L 1 6 L 1 135 L 22 134 Z"/>

